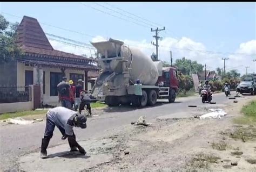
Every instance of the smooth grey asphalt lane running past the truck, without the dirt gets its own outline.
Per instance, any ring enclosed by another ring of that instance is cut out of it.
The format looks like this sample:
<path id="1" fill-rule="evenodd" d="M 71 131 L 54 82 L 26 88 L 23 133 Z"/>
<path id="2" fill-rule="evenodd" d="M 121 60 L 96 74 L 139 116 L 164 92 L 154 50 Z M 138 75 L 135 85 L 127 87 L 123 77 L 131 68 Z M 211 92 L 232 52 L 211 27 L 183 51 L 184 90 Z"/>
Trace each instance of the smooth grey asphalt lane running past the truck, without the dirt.
<path id="1" fill-rule="evenodd" d="M 234 92 L 232 93 L 235 94 Z M 224 94 L 213 95 L 213 101 L 218 106 L 233 101 L 228 99 Z M 99 137 L 123 125 L 130 125 L 131 121 L 136 121 L 140 116 L 146 116 L 146 120 L 157 118 L 159 116 L 170 116 L 171 118 L 192 117 L 193 111 L 188 105 L 197 106 L 217 106 L 214 104 L 203 104 L 198 96 L 178 98 L 175 103 L 159 102 L 156 106 L 146 107 L 144 109 L 133 109 L 132 107 L 107 107 L 99 117 L 87 119 L 87 128 L 85 130 L 74 128 L 77 140 L 86 140 L 88 138 Z M 180 113 L 183 112 L 183 113 Z M 177 115 L 179 114 L 179 115 Z M 15 161 L 18 156 L 39 152 L 41 138 L 44 134 L 45 120 L 41 123 L 30 125 L 2 125 L 0 126 L 0 169 L 15 168 Z M 58 129 L 50 141 L 49 147 L 67 144 L 67 140 L 61 140 Z M 38 154 L 39 155 L 39 154 Z"/>

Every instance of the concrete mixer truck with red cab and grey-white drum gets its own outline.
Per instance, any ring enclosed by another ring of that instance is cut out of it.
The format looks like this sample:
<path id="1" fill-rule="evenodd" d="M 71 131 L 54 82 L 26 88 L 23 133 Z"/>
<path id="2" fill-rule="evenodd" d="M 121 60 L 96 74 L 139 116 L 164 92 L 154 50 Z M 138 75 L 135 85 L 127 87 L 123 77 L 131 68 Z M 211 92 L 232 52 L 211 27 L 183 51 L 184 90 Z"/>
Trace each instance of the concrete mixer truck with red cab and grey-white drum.
<path id="1" fill-rule="evenodd" d="M 96 80 L 92 96 L 105 101 L 109 106 L 130 105 L 145 107 L 154 105 L 157 99 L 176 99 L 178 80 L 176 69 L 163 68 L 160 61 L 152 61 L 139 49 L 130 48 L 124 42 L 91 42 L 97 49 L 98 63 L 102 72 Z M 140 80 L 143 96 L 139 104 L 134 98 L 134 83 Z"/>

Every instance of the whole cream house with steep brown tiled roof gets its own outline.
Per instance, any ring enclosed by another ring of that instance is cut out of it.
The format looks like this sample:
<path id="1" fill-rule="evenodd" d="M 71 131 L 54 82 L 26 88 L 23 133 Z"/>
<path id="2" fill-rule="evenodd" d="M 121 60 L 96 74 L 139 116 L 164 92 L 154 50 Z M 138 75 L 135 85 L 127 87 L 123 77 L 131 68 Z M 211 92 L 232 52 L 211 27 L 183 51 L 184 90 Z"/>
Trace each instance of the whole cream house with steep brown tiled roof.
<path id="1" fill-rule="evenodd" d="M 0 71 L 8 74 L 0 78 L 0 87 L 40 85 L 41 103 L 51 105 L 58 104 L 57 84 L 63 76 L 75 83 L 82 79 L 84 88 L 91 89 L 88 80 L 97 77 L 99 71 L 93 59 L 54 49 L 35 18 L 24 16 L 17 34 L 16 44 L 23 55 L 5 64 L 4 71 L 0 66 Z"/>

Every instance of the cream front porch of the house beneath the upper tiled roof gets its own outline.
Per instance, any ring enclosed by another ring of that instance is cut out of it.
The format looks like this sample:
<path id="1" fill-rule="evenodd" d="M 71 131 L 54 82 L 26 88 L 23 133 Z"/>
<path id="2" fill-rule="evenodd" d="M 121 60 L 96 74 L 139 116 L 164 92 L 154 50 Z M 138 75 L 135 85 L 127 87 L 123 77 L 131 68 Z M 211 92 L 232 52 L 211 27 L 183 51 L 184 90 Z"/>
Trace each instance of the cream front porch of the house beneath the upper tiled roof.
<path id="1" fill-rule="evenodd" d="M 79 79 L 82 79 L 84 89 L 92 89 L 91 83 L 88 82 L 88 71 L 97 71 L 97 68 L 72 64 L 38 63 L 37 61 L 26 60 L 17 62 L 17 85 L 22 87 L 30 84 L 40 85 L 40 97 L 43 105 L 59 105 L 57 84 L 63 76 L 66 76 L 68 80 L 73 80 L 75 84 Z"/>

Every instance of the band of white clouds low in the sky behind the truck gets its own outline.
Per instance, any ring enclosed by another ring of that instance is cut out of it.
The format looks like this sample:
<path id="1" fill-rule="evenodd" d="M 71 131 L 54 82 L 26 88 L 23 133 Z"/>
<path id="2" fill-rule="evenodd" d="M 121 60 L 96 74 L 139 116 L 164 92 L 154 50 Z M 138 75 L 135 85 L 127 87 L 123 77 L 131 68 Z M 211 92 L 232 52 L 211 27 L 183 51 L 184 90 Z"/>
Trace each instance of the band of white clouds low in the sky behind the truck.
<path id="1" fill-rule="evenodd" d="M 113 38 L 115 39 L 115 38 Z M 106 41 L 106 39 L 100 35 L 95 38 L 92 38 L 92 42 L 98 41 Z M 151 55 L 153 52 L 156 52 L 156 47 L 151 45 L 151 40 L 121 40 L 124 41 L 125 45 L 134 46 L 139 48 L 142 52 L 147 55 Z M 83 47 L 74 47 L 71 45 L 66 45 L 61 42 L 50 40 L 53 48 L 58 49 L 60 51 L 73 53 L 77 55 L 86 54 L 87 56 L 94 56 L 95 52 L 93 49 L 83 48 Z M 245 66 L 250 66 L 248 68 L 248 72 L 253 73 L 255 68 L 255 63 L 253 63 L 253 59 L 256 59 L 256 56 L 247 56 L 247 55 L 220 55 L 213 53 L 206 53 L 207 48 L 201 42 L 196 42 L 190 38 L 183 37 L 181 39 L 175 39 L 171 37 L 166 37 L 163 40 L 159 41 L 159 59 L 163 61 L 170 62 L 170 50 L 172 51 L 173 62 L 176 59 L 183 58 L 184 56 L 187 59 L 192 61 L 196 60 L 201 64 L 206 64 L 207 70 L 215 70 L 217 67 L 223 68 L 224 61 L 221 60 L 223 57 L 229 58 L 226 61 L 226 70 L 237 69 L 241 74 L 245 74 Z M 227 50 L 228 52 L 228 50 Z M 247 42 L 243 42 L 237 48 L 237 51 L 234 53 L 242 53 L 242 54 L 256 54 L 256 40 L 251 40 Z"/>

